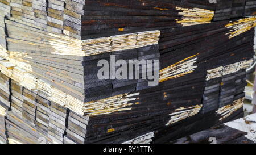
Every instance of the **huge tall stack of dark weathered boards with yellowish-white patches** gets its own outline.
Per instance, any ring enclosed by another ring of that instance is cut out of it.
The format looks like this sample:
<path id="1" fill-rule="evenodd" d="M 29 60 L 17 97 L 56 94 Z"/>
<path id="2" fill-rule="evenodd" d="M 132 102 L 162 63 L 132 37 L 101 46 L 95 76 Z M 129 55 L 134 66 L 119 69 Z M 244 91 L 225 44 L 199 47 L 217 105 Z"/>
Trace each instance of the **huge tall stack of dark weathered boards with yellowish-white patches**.
<path id="1" fill-rule="evenodd" d="M 0 1 L 1 141 L 164 143 L 240 118 L 253 4 Z M 153 63 L 98 78 L 112 56 Z"/>

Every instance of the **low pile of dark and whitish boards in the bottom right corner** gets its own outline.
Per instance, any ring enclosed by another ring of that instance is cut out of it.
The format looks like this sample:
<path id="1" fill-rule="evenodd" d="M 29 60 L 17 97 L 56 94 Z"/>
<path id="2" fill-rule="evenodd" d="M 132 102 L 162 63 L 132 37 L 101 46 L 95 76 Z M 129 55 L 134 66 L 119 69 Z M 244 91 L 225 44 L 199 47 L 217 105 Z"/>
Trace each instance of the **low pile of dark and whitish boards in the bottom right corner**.
<path id="1" fill-rule="evenodd" d="M 255 144 L 255 114 L 171 141 L 174 144 Z"/>

